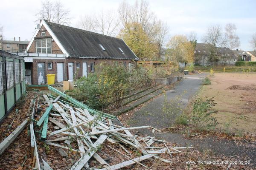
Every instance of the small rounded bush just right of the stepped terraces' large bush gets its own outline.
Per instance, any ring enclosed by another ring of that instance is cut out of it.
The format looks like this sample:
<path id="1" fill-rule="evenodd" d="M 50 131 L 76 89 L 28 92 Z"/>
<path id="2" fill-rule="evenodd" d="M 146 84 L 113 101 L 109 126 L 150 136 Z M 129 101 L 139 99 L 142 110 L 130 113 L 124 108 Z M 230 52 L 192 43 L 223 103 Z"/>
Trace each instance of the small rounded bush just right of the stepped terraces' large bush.
<path id="1" fill-rule="evenodd" d="M 131 72 L 131 87 L 141 88 L 151 85 L 152 80 L 149 77 L 148 70 L 140 67 Z"/>

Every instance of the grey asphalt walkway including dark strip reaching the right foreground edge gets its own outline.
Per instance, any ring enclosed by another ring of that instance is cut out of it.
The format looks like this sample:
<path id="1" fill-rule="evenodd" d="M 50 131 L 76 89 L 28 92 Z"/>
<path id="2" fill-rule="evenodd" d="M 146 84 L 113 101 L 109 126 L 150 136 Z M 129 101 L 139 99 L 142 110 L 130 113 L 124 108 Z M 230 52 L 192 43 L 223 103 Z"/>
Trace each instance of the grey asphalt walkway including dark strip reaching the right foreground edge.
<path id="1" fill-rule="evenodd" d="M 185 107 L 189 99 L 197 94 L 201 87 L 202 79 L 207 74 L 197 74 L 185 76 L 175 86 L 173 91 L 167 91 L 167 99 L 174 99 L 180 97 L 180 103 Z M 164 95 L 159 96 L 157 99 L 152 100 L 147 105 L 143 106 L 139 111 L 127 122 L 130 126 L 143 126 L 150 125 L 157 128 L 171 127 L 170 119 L 163 113 Z M 210 149 L 215 155 L 224 155 L 230 157 L 237 157 L 238 160 L 246 159 L 251 161 L 253 167 L 256 166 L 256 142 L 242 141 L 241 144 L 236 144 L 234 141 L 221 139 L 218 140 L 214 137 L 205 137 L 203 139 L 194 137 L 192 139 L 185 139 L 179 133 L 151 133 L 151 130 L 140 129 L 140 133 L 145 136 L 155 136 L 159 139 L 177 143 L 179 146 L 193 146 L 200 151 Z"/>

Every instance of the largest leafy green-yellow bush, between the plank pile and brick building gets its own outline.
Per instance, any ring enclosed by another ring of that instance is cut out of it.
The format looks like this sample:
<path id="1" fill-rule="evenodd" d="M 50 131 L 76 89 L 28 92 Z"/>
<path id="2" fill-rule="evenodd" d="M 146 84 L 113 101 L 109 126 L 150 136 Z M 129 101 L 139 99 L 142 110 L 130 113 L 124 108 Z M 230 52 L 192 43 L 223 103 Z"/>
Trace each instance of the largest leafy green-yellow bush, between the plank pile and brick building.
<path id="1" fill-rule="evenodd" d="M 103 66 L 104 65 L 104 66 Z M 113 103 L 117 108 L 129 88 L 130 73 L 121 65 L 102 63 L 100 71 L 77 80 L 79 91 L 86 104 L 95 109 L 104 110 Z M 77 99 L 81 96 L 75 96 Z"/>

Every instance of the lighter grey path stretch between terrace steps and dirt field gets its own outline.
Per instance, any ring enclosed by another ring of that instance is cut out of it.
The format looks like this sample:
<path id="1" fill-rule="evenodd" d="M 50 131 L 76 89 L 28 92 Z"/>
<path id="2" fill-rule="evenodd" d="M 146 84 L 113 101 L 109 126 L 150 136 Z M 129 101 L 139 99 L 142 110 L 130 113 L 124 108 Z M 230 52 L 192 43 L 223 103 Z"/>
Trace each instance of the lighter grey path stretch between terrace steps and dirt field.
<path id="1" fill-rule="evenodd" d="M 202 84 L 202 79 L 206 74 L 196 74 L 185 76 L 177 83 L 172 91 L 166 91 L 167 100 L 180 98 L 180 103 L 186 107 L 189 99 L 194 96 Z M 163 113 L 164 94 L 157 99 L 152 100 L 134 113 L 134 116 L 128 121 L 131 126 L 152 125 L 157 128 L 170 127 L 170 117 Z"/>

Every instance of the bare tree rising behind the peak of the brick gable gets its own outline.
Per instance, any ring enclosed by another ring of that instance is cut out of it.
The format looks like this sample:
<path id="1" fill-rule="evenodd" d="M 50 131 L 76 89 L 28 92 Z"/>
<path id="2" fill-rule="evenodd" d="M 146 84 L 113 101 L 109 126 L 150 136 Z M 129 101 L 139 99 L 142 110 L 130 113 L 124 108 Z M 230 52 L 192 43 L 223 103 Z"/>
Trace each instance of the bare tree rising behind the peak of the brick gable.
<path id="1" fill-rule="evenodd" d="M 64 8 L 61 1 L 55 1 L 52 3 L 49 0 L 45 0 L 41 4 L 41 10 L 36 14 L 38 20 L 48 20 L 52 23 L 66 24 L 70 22 L 70 11 Z M 37 21 L 38 21 L 37 20 Z"/>

